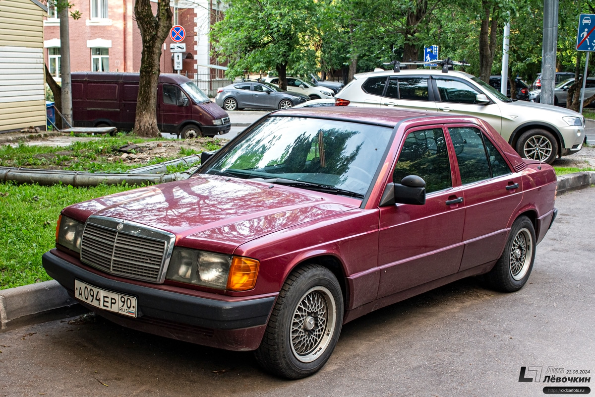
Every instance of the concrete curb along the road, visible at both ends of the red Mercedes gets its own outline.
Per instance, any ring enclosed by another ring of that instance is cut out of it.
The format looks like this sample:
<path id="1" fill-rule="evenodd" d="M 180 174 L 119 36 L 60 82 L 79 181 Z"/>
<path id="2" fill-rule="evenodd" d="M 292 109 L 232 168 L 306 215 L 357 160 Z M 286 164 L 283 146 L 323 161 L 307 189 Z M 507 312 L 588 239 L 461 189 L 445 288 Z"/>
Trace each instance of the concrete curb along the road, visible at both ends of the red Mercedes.
<path id="1" fill-rule="evenodd" d="M 558 177 L 558 193 L 595 184 L 595 171 Z M 0 290 L 0 328 L 7 331 L 26 324 L 66 318 L 85 311 L 55 280 Z"/>

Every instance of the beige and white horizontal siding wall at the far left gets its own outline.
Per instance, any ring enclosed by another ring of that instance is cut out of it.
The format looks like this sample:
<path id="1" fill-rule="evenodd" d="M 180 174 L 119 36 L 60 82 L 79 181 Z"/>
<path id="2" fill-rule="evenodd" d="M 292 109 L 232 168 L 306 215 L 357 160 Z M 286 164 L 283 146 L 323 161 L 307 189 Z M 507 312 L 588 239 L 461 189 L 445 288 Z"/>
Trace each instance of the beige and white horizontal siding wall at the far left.
<path id="1" fill-rule="evenodd" d="M 45 126 L 43 15 L 31 0 L 0 0 L 0 132 Z"/>

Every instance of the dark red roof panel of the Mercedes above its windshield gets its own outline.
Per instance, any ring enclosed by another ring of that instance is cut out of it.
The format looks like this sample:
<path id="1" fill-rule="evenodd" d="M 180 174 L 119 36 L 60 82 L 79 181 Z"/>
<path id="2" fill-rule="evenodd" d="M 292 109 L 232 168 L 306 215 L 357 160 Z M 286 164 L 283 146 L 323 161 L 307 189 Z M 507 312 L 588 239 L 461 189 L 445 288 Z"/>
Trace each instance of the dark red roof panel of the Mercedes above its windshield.
<path id="1" fill-rule="evenodd" d="M 394 127 L 400 121 L 412 118 L 429 118 L 433 123 L 452 123 L 455 120 L 462 122 L 478 120 L 475 117 L 465 115 L 443 115 L 437 112 L 395 110 L 387 108 L 367 107 L 314 107 L 314 108 L 290 108 L 277 110 L 271 113 L 275 116 L 293 117 L 320 117 L 334 120 L 348 120 L 359 123 L 380 124 Z"/>

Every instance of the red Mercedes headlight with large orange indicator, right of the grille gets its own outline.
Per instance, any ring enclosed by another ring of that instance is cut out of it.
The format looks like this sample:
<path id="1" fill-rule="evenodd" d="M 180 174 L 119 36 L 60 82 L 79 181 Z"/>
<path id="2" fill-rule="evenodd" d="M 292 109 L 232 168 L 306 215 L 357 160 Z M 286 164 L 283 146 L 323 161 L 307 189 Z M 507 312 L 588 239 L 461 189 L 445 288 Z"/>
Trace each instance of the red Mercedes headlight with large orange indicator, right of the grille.
<path id="1" fill-rule="evenodd" d="M 175 247 L 168 280 L 230 290 L 252 289 L 258 274 L 256 260 Z"/>

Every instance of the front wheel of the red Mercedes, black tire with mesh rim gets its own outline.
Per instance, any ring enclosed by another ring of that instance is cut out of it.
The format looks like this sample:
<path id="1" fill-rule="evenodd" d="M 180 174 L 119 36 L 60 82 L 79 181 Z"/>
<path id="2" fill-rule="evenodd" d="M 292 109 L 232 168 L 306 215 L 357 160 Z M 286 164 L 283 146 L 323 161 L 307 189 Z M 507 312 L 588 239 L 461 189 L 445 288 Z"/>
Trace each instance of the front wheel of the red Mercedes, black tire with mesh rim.
<path id="1" fill-rule="evenodd" d="M 342 324 L 343 294 L 334 274 L 314 264 L 296 268 L 281 288 L 256 361 L 287 379 L 310 376 L 333 353 Z"/>

